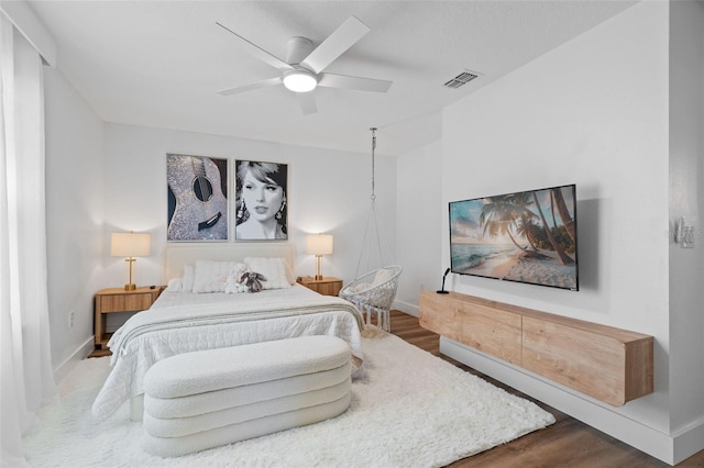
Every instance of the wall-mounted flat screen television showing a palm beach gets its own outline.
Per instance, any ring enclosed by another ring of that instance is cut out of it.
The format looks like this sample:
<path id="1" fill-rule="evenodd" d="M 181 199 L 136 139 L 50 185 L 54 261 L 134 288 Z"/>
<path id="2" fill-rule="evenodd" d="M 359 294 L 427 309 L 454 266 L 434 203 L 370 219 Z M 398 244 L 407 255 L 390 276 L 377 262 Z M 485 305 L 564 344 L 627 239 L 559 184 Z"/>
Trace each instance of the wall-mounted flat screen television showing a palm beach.
<path id="1" fill-rule="evenodd" d="M 579 290 L 575 185 L 449 204 L 452 272 Z"/>

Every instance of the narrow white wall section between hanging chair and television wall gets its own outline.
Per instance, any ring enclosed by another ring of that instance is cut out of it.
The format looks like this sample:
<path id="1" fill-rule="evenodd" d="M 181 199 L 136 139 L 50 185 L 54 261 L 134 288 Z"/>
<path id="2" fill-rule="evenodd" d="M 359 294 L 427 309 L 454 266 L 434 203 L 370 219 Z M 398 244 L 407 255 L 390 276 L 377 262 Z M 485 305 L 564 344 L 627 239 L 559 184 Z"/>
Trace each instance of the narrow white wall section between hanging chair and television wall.
<path id="1" fill-rule="evenodd" d="M 404 267 L 395 307 L 418 315 L 418 291 L 440 289 L 442 261 L 438 242 L 442 226 L 442 142 L 433 142 L 398 158 L 396 164 L 397 264 Z"/>

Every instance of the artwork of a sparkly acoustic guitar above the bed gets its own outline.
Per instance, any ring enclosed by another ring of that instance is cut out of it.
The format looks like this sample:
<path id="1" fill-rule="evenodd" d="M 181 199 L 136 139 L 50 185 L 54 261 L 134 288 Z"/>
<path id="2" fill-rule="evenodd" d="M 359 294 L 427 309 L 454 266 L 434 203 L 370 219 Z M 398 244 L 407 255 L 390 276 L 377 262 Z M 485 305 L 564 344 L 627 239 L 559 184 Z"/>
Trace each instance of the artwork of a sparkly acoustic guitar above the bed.
<path id="1" fill-rule="evenodd" d="M 166 155 L 169 242 L 228 239 L 228 160 Z"/>

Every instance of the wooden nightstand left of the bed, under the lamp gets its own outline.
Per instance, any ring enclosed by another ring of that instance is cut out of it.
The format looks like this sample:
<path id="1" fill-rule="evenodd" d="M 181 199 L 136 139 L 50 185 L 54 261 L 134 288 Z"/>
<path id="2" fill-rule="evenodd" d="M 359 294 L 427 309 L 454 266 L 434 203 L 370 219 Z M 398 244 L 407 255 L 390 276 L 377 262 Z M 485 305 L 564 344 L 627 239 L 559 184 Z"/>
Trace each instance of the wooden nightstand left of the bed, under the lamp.
<path id="1" fill-rule="evenodd" d="M 107 316 L 105 314 L 113 312 L 141 312 L 152 307 L 164 288 L 138 288 L 133 291 L 125 291 L 124 288 L 108 288 L 96 292 L 96 350 L 91 356 L 110 355 L 108 341 L 112 333 L 106 333 Z M 105 319 L 105 320 L 103 320 Z"/>

